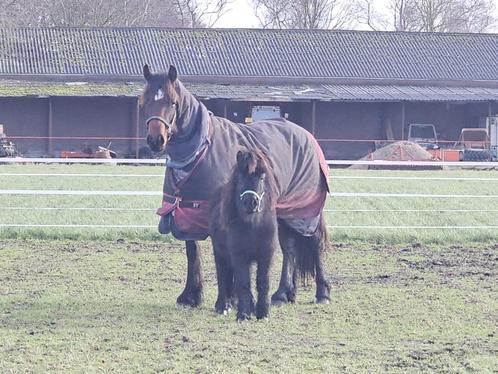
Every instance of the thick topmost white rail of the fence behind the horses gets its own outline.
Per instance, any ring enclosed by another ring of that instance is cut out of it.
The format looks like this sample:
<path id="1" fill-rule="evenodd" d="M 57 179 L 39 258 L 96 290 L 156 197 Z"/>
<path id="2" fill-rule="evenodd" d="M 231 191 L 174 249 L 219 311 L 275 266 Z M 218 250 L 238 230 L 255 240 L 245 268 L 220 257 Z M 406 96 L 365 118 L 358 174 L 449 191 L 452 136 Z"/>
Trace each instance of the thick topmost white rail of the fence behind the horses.
<path id="1" fill-rule="evenodd" d="M 0 164 L 143 164 L 164 165 L 164 159 L 137 159 L 137 158 L 27 158 L 5 157 Z M 365 165 L 365 166 L 454 166 L 454 167 L 486 167 L 498 168 L 498 162 L 471 162 L 471 161 L 387 161 L 387 160 L 327 160 L 328 165 Z"/>

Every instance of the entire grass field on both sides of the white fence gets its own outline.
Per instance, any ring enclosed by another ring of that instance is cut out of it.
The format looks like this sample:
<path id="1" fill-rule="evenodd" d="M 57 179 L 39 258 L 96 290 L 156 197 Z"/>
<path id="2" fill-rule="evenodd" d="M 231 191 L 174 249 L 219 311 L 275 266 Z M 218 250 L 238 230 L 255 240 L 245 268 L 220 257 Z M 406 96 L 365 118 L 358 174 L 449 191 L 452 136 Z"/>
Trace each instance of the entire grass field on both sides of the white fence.
<path id="1" fill-rule="evenodd" d="M 213 311 L 209 241 L 205 303 L 175 305 L 186 259 L 154 228 L 163 171 L 0 166 L 4 192 L 152 193 L 0 194 L 0 373 L 498 372 L 498 229 L 475 228 L 498 223 L 497 172 L 332 170 L 333 193 L 439 197 L 331 197 L 331 304 L 302 286 L 268 322 L 238 324 Z M 68 175 L 82 173 L 100 176 Z M 145 227 L 6 226 L 21 224 Z"/>

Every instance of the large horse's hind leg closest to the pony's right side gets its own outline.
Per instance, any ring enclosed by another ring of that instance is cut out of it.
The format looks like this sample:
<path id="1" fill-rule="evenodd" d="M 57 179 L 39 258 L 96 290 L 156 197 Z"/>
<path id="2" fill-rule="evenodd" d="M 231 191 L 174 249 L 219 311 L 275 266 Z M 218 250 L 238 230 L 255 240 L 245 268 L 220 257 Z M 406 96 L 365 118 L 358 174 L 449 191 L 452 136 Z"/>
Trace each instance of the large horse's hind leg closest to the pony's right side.
<path id="1" fill-rule="evenodd" d="M 282 248 L 282 274 L 277 291 L 272 295 L 274 305 L 293 303 L 296 300 L 296 266 L 294 234 L 283 223 L 278 225 L 278 240 Z"/>

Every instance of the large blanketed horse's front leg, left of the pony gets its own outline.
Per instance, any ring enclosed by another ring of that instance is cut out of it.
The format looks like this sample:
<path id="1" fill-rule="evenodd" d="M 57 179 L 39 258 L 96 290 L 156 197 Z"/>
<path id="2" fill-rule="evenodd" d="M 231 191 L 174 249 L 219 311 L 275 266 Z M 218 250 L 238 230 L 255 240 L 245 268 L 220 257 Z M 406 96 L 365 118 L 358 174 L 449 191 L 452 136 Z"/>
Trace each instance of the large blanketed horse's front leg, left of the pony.
<path id="1" fill-rule="evenodd" d="M 185 242 L 187 250 L 187 283 L 176 302 L 181 305 L 197 307 L 202 303 L 202 266 L 201 248 L 195 241 Z"/>

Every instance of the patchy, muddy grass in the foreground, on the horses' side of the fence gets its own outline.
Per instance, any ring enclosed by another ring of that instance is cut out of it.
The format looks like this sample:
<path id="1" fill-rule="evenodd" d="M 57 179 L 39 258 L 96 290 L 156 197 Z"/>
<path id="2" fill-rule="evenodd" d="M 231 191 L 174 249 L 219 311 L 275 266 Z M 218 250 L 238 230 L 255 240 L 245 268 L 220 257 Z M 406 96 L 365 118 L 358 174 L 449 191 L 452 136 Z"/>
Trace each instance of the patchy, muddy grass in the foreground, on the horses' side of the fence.
<path id="1" fill-rule="evenodd" d="M 411 373 L 498 369 L 498 248 L 336 245 L 268 322 L 175 305 L 186 272 L 160 242 L 0 241 L 0 372 Z M 281 257 L 273 266 L 275 290 Z"/>

